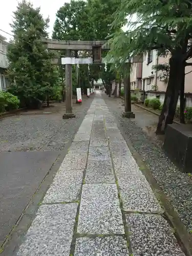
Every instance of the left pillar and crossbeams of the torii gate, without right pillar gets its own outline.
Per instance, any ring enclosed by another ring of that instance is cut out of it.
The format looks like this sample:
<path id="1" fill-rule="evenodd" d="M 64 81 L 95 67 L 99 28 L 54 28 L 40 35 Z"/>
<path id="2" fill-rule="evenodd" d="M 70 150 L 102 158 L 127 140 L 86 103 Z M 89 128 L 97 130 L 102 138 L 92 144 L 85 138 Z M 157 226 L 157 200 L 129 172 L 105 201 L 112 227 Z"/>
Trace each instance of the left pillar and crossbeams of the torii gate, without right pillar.
<path id="1" fill-rule="evenodd" d="M 66 50 L 66 57 L 61 58 L 61 64 L 66 65 L 66 113 L 63 119 L 74 118 L 72 106 L 72 65 L 74 64 L 91 64 L 101 62 L 101 49 L 110 50 L 106 41 L 61 41 L 50 38 L 42 38 L 50 50 Z M 73 51 L 93 51 L 92 58 L 72 58 Z"/>

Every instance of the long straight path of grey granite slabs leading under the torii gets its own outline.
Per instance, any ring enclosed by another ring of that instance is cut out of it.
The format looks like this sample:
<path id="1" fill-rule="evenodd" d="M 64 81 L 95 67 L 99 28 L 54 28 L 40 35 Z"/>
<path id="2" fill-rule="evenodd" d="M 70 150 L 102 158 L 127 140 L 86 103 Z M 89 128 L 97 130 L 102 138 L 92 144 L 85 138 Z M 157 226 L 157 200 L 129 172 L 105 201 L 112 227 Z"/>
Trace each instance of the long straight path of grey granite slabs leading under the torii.
<path id="1" fill-rule="evenodd" d="M 17 256 L 184 256 L 99 93 Z"/>

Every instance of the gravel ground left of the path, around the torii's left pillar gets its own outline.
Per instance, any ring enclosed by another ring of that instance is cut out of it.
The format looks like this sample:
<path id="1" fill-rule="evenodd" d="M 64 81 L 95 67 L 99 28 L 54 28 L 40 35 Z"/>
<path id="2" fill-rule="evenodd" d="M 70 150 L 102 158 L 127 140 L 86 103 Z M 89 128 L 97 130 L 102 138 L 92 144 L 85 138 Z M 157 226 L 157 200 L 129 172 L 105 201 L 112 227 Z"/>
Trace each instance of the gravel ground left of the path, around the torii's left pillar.
<path id="1" fill-rule="evenodd" d="M 77 132 L 94 96 L 83 97 L 82 105 L 74 104 L 76 118 L 63 120 L 65 102 L 54 107 L 20 113 L 0 119 L 0 152 L 60 151 Z M 75 100 L 73 100 L 75 102 Z M 50 114 L 44 114 L 51 112 Z"/>

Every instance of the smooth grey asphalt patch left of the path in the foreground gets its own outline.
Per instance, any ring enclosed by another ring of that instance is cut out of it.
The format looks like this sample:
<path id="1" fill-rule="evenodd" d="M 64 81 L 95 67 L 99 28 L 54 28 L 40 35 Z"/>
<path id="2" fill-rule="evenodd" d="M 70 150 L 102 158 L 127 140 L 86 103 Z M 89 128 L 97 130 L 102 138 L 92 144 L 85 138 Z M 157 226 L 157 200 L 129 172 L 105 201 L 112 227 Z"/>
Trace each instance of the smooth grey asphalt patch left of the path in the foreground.
<path id="1" fill-rule="evenodd" d="M 0 245 L 58 155 L 57 151 L 0 154 Z"/>

